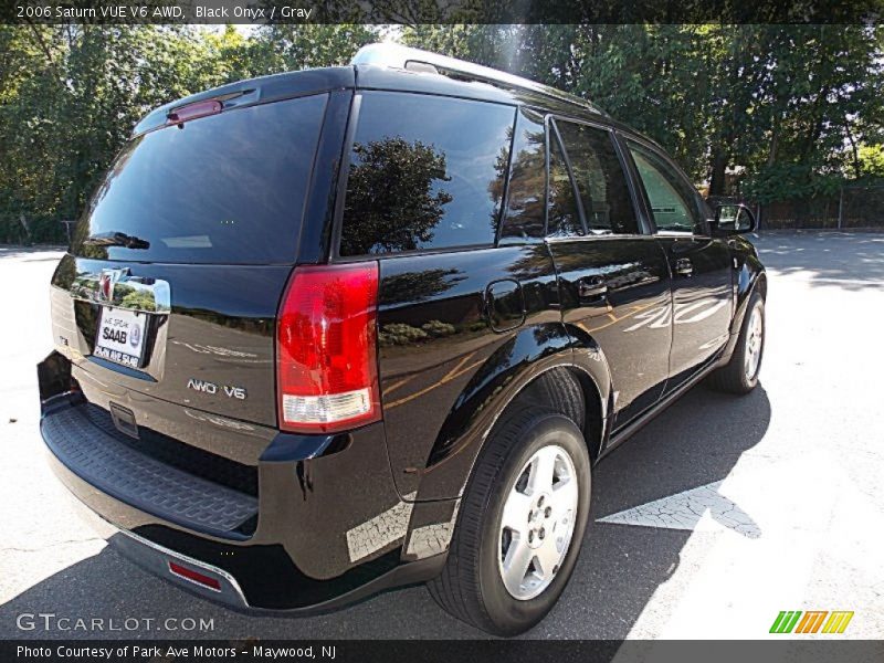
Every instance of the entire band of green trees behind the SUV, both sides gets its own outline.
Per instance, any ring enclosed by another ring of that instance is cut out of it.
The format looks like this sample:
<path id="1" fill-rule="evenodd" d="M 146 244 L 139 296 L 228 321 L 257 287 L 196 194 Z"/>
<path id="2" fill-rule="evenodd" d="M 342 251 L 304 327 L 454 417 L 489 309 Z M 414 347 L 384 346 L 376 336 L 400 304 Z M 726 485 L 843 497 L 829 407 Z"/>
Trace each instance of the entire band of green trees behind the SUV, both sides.
<path id="1" fill-rule="evenodd" d="M 346 17 L 345 17 L 346 18 Z M 401 20 L 408 21 L 403 15 Z M 0 25 L 0 241 L 59 240 L 136 120 L 245 77 L 346 63 L 361 24 Z M 404 43 L 554 85 L 760 202 L 881 177 L 881 25 L 407 25 Z"/>

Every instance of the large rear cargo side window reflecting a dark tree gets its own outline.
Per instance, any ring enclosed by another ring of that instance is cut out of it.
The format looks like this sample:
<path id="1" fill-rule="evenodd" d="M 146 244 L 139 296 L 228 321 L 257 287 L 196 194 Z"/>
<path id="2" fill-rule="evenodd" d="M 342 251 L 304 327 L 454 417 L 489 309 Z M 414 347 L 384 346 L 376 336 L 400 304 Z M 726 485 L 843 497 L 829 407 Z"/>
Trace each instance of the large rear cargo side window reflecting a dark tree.
<path id="1" fill-rule="evenodd" d="M 512 106 L 365 93 L 340 255 L 493 243 L 514 120 Z"/>

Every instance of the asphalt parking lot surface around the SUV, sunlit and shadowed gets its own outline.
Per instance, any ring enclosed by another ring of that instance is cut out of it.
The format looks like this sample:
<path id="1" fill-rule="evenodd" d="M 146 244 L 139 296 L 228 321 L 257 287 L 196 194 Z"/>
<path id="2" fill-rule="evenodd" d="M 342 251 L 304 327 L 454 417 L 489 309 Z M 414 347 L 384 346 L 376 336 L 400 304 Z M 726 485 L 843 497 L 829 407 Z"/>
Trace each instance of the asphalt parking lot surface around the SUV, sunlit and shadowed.
<path id="1" fill-rule="evenodd" d="M 884 234 L 755 242 L 769 273 L 758 389 L 701 385 L 599 464 L 571 582 L 526 638 L 759 639 L 783 610 L 853 611 L 842 636 L 884 638 Z M 107 548 L 46 467 L 38 431 L 61 254 L 0 248 L 0 638 L 483 636 L 421 587 L 320 617 L 243 615 Z M 105 630 L 20 617 L 36 613 Z M 188 618 L 212 628 L 186 629 Z M 110 631 L 112 619 L 139 625 Z"/>

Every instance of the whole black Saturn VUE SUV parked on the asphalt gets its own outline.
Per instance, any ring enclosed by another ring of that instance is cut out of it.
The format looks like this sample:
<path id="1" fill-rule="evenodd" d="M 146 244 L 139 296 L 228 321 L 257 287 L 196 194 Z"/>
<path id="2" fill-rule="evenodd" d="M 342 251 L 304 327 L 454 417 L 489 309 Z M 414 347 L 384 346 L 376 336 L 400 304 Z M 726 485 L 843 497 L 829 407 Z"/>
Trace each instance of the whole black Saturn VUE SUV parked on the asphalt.
<path id="1" fill-rule="evenodd" d="M 758 379 L 766 277 L 652 141 L 465 62 L 225 85 L 145 117 L 52 280 L 41 430 L 139 564 L 254 610 L 430 582 L 498 634 L 575 566 L 590 469 Z"/>

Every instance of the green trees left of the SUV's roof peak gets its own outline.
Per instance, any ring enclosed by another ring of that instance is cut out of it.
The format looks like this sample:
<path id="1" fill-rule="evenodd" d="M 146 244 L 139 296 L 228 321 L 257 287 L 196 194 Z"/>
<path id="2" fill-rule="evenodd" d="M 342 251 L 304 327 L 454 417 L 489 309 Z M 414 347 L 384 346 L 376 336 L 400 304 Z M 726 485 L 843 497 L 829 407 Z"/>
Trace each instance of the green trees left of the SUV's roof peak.
<path id="1" fill-rule="evenodd" d="M 241 78 L 345 64 L 365 25 L 244 35 L 168 25 L 0 25 L 0 242 L 60 240 L 151 108 Z"/>

